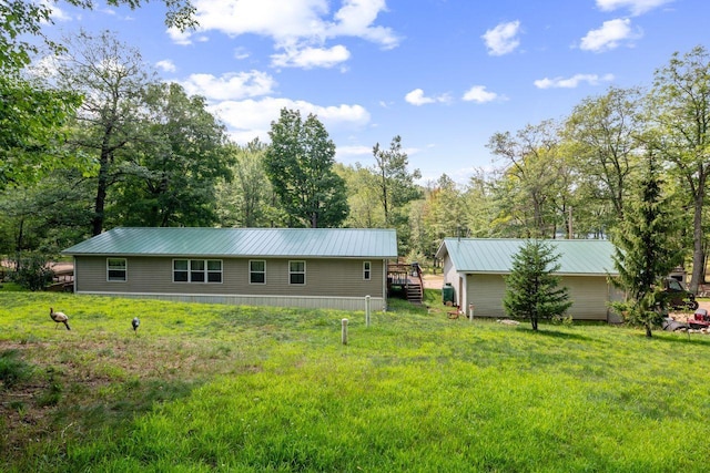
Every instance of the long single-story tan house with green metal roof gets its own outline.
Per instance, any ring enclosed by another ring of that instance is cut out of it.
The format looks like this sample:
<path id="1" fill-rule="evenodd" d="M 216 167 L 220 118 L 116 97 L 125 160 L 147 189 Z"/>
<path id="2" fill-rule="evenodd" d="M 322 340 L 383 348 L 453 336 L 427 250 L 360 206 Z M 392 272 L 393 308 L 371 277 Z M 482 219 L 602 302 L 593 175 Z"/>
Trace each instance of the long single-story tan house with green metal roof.
<path id="1" fill-rule="evenodd" d="M 387 301 L 393 229 L 114 228 L 62 251 L 77 294 L 373 310 Z"/>

